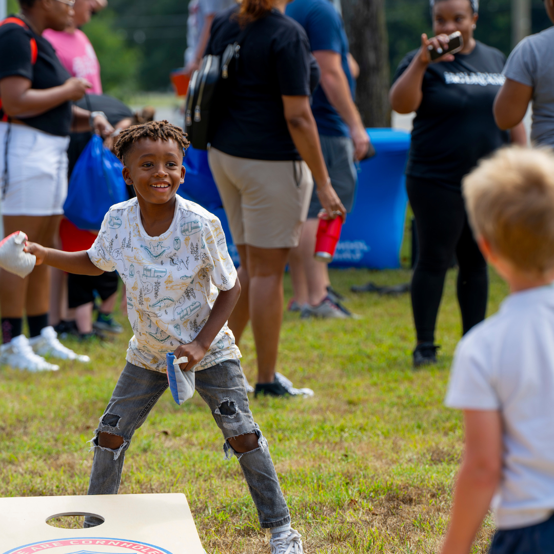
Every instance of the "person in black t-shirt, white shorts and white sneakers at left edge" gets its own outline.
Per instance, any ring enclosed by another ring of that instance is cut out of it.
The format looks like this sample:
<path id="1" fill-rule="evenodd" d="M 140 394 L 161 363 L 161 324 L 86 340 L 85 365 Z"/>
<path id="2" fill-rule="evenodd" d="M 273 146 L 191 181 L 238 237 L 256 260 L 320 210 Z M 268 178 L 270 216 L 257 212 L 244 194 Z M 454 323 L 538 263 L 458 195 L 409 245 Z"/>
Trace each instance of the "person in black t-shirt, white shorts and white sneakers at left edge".
<path id="1" fill-rule="evenodd" d="M 112 126 L 100 113 L 71 104 L 90 87 L 73 78 L 42 37 L 63 30 L 73 17 L 73 0 L 19 0 L 21 13 L 0 22 L 0 176 L 4 234 L 23 231 L 29 240 L 53 246 L 67 193 L 69 132 L 106 136 Z M 92 121 L 91 121 L 92 120 Z M 92 125 L 91 125 L 92 124 Z M 25 279 L 2 271 L 0 363 L 29 371 L 55 370 L 40 355 L 88 360 L 57 339 L 48 325 L 49 279 L 37 266 Z M 27 312 L 30 340 L 22 334 Z"/>

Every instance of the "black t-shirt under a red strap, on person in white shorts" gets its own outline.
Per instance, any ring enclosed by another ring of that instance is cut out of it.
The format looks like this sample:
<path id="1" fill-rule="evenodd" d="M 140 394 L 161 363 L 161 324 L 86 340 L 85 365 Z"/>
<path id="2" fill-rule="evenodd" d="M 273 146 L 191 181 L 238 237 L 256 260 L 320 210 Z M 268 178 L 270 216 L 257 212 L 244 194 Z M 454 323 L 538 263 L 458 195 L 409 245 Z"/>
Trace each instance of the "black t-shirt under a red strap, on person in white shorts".
<path id="1" fill-rule="evenodd" d="M 29 79 L 32 89 L 42 90 L 63 85 L 71 76 L 47 39 L 27 25 L 5 23 L 0 25 L 0 79 L 16 75 Z M 43 114 L 18 119 L 40 131 L 66 136 L 71 129 L 71 117 L 71 102 L 67 101 Z"/>

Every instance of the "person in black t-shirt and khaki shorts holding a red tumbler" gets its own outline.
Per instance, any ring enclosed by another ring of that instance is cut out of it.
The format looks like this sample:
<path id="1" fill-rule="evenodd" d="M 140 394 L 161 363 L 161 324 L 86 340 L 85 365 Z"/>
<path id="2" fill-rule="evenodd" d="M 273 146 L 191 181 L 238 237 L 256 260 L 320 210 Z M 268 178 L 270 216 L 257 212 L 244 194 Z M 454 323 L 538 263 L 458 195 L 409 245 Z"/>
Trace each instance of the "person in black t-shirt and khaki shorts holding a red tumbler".
<path id="1" fill-rule="evenodd" d="M 222 55 L 245 29 L 240 56 L 218 93 L 208 160 L 240 256 L 243 293 L 229 327 L 238 342 L 252 320 L 258 355 L 255 392 L 274 396 L 294 392 L 275 376 L 275 364 L 283 274 L 306 220 L 312 175 L 330 217 L 345 214 L 310 109 L 317 64 L 304 29 L 284 15 L 287 1 L 243 0 L 240 8 L 218 14 L 206 50 Z"/>

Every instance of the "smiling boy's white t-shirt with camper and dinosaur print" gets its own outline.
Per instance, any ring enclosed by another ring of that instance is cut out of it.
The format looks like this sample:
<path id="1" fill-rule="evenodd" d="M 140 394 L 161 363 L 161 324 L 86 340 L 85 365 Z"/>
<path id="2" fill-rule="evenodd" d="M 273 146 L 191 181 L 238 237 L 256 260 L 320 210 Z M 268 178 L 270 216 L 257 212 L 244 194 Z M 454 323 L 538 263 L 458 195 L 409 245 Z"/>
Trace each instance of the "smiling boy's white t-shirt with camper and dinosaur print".
<path id="1" fill-rule="evenodd" d="M 198 335 L 218 289 L 232 289 L 237 279 L 219 219 L 194 202 L 176 199 L 170 228 L 159 237 L 146 234 L 136 198 L 115 204 L 88 250 L 94 265 L 117 270 L 126 285 L 135 333 L 127 361 L 160 372 L 166 371 L 166 353 Z M 237 358 L 240 351 L 225 324 L 194 371 Z"/>

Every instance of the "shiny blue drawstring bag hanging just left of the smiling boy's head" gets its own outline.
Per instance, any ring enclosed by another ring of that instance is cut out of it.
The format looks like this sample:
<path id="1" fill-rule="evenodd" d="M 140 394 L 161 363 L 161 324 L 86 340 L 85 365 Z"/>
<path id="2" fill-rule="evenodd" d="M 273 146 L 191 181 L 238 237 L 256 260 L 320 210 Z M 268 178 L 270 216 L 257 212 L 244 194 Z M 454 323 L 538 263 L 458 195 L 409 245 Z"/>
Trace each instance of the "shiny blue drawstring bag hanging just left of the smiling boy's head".
<path id="1" fill-rule="evenodd" d="M 64 214 L 80 229 L 98 230 L 111 206 L 129 200 L 122 163 L 93 135 L 75 163 Z"/>

